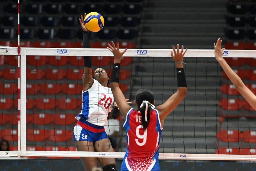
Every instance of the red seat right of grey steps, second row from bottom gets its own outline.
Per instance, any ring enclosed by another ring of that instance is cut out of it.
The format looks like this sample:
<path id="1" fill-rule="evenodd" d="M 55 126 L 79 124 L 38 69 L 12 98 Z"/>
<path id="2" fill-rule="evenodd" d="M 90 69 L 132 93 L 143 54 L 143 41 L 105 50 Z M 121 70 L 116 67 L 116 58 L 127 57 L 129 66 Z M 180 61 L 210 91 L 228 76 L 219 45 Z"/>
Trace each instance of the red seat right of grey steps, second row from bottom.
<path id="1" fill-rule="evenodd" d="M 223 142 L 238 142 L 239 137 L 239 130 L 221 130 L 217 133 L 217 138 Z"/>

